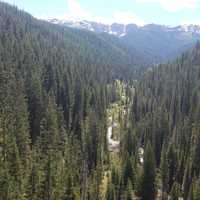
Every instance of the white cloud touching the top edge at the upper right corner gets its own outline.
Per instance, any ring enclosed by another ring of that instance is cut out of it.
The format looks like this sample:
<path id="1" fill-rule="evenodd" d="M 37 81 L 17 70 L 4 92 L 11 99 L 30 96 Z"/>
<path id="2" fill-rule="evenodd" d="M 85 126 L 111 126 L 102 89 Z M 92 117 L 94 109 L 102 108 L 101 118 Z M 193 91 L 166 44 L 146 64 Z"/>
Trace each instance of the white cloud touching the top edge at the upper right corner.
<path id="1" fill-rule="evenodd" d="M 183 9 L 194 9 L 200 0 L 137 0 L 139 3 L 158 3 L 168 12 L 177 12 Z"/>

